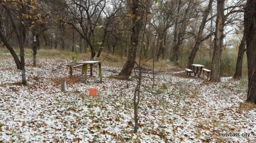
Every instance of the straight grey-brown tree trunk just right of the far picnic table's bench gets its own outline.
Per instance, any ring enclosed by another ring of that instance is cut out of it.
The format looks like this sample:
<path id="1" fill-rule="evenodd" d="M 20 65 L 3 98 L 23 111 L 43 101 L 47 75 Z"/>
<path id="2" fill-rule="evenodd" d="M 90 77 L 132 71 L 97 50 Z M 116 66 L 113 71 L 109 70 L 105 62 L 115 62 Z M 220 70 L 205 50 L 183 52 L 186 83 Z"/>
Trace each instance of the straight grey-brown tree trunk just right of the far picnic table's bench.
<path id="1" fill-rule="evenodd" d="M 221 81 L 221 55 L 223 45 L 224 29 L 224 0 L 217 0 L 217 19 L 214 35 L 214 49 L 212 56 L 211 78 L 213 82 Z"/>

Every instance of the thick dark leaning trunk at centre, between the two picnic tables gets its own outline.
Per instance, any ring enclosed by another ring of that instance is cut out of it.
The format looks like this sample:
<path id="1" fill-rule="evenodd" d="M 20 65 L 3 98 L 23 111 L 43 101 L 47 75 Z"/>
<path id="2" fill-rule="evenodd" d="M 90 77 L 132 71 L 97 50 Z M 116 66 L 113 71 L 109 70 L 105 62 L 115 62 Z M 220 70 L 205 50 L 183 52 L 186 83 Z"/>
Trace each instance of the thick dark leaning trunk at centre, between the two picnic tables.
<path id="1" fill-rule="evenodd" d="M 138 9 L 140 9 L 140 5 L 139 5 L 139 0 L 132 0 L 132 14 L 133 15 L 138 15 L 141 18 L 137 19 L 136 17 L 132 18 L 132 34 L 131 34 L 131 41 L 130 41 L 130 47 L 129 47 L 129 53 L 128 53 L 128 58 L 127 61 L 122 69 L 122 71 L 120 72 L 120 75 L 123 76 L 130 76 L 132 69 L 134 67 L 135 64 L 135 59 L 136 59 L 136 50 L 137 47 L 139 46 L 139 34 L 140 34 L 140 30 L 142 29 L 142 25 L 143 25 L 143 11 L 138 12 Z M 142 9 L 142 8 L 141 8 Z M 137 16 L 137 17 L 138 17 Z M 135 43 L 135 44 L 133 44 Z"/>

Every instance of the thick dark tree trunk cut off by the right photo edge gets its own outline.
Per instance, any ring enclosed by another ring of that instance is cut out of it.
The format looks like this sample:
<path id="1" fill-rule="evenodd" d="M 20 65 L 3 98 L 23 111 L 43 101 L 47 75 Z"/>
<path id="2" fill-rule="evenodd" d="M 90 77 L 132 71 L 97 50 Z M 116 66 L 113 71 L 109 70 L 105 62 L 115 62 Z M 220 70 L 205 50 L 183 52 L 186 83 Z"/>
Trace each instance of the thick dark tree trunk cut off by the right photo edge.
<path id="1" fill-rule="evenodd" d="M 256 103 L 256 1 L 247 0 L 244 10 L 244 34 L 248 64 L 247 102 Z"/>

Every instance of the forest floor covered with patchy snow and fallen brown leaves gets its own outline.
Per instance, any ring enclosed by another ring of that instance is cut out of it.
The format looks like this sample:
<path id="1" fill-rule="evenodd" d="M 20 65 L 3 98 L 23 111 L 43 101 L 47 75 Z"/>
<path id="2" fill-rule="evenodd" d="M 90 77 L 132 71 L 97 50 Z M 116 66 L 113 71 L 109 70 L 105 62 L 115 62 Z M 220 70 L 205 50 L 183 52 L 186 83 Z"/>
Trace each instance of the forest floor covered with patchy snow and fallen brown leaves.
<path id="1" fill-rule="evenodd" d="M 40 58 L 36 67 L 26 59 L 23 86 L 13 58 L 0 60 L 0 142 L 256 142 L 256 107 L 245 103 L 246 80 L 213 83 L 166 61 L 152 88 L 152 71 L 143 70 L 140 125 L 133 133 L 134 73 L 130 81 L 107 78 L 122 64 L 102 62 L 103 82 L 95 83 L 83 82 L 81 69 L 69 79 L 70 59 Z M 89 81 L 99 78 L 98 68 L 93 71 Z M 61 79 L 66 92 L 60 92 Z M 98 89 L 95 98 L 88 88 Z"/>

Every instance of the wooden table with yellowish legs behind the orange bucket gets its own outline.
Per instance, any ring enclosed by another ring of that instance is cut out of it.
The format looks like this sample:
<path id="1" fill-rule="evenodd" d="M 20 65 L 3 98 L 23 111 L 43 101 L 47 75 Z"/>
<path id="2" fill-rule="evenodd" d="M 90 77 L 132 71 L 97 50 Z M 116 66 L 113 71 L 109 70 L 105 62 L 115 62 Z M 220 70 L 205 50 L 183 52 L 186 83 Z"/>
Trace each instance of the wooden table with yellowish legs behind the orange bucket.
<path id="1" fill-rule="evenodd" d="M 99 60 L 89 60 L 89 61 L 82 61 L 77 62 L 76 64 L 83 64 L 82 74 L 84 74 L 84 80 L 87 81 L 87 65 L 90 65 L 90 75 L 93 75 L 93 64 L 99 63 L 99 77 L 100 82 L 102 81 L 102 74 L 101 74 L 101 61 Z"/>

